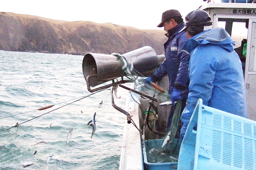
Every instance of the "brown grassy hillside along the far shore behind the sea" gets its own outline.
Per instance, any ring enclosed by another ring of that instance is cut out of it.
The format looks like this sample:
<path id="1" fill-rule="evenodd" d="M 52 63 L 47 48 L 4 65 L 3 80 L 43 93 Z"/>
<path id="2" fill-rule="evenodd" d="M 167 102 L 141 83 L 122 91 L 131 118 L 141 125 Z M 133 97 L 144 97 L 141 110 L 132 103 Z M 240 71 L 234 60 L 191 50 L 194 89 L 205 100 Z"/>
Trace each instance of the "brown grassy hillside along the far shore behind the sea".
<path id="1" fill-rule="evenodd" d="M 9 12 L 0 12 L 0 23 L 0 50 L 5 51 L 124 54 L 151 46 L 160 55 L 167 40 L 163 30 L 140 30 L 90 21 L 59 21 Z"/>

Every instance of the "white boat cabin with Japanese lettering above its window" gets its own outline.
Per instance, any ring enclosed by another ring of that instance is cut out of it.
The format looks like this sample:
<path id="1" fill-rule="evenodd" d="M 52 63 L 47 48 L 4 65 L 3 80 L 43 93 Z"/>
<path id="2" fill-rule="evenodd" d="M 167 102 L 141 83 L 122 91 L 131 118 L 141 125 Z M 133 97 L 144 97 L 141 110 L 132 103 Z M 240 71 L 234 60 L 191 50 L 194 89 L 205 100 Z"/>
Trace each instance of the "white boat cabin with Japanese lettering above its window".
<path id="1" fill-rule="evenodd" d="M 200 9 L 210 14 L 212 28 L 225 28 L 236 41 L 235 51 L 244 72 L 248 118 L 256 120 L 256 4 L 207 3 Z"/>

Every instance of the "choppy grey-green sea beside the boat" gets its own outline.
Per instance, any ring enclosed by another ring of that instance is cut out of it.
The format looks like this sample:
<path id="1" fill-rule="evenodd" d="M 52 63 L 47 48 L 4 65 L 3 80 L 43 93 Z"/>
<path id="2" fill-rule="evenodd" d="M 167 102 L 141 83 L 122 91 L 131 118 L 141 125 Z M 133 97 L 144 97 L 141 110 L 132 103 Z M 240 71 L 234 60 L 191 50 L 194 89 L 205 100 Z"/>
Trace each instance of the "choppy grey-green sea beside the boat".
<path id="1" fill-rule="evenodd" d="M 109 89 L 87 90 L 82 61 L 78 55 L 0 51 L 1 170 L 118 169 L 125 115 L 112 107 Z M 125 109 L 127 91 L 119 87 L 117 95 L 115 103 Z M 87 122 L 94 112 L 91 139 Z"/>

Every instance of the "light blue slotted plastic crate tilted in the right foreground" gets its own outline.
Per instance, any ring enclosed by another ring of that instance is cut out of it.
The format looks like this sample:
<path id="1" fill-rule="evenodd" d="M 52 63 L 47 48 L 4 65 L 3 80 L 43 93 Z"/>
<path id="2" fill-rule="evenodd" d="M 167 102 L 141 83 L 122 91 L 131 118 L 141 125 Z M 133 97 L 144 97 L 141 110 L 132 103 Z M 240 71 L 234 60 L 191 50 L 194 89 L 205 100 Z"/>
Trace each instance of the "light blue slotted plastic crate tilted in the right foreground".
<path id="1" fill-rule="evenodd" d="M 204 106 L 199 99 L 181 143 L 178 170 L 255 170 L 255 150 L 255 121 Z"/>

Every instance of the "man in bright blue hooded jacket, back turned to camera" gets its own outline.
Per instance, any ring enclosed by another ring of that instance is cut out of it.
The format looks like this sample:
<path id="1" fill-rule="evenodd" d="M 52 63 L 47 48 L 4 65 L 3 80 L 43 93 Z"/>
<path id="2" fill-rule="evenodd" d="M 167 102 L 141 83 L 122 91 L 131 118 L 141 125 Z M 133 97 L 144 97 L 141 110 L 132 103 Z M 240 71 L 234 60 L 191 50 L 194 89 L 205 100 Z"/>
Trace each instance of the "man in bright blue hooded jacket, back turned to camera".
<path id="1" fill-rule="evenodd" d="M 189 94 L 182 112 L 180 139 L 183 139 L 197 100 L 203 104 L 247 117 L 242 64 L 234 51 L 235 42 L 223 28 L 211 29 L 206 11 L 195 10 L 185 17 L 190 38 L 182 51 L 190 54 Z"/>

